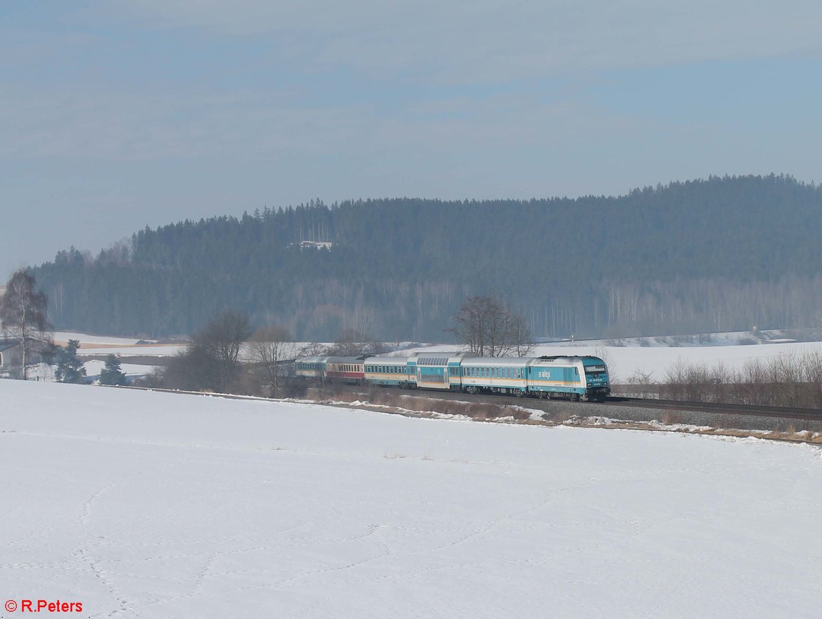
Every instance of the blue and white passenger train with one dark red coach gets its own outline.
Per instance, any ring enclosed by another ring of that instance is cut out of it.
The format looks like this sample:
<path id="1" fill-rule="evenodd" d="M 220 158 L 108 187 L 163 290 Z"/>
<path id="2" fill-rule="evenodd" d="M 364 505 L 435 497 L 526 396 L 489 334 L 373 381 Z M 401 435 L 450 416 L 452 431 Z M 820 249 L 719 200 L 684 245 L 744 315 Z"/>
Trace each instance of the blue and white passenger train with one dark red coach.
<path id="1" fill-rule="evenodd" d="M 603 402 L 611 393 L 598 356 L 481 357 L 470 352 L 409 356 L 312 356 L 294 362 L 296 375 L 318 381 L 462 393 Z"/>

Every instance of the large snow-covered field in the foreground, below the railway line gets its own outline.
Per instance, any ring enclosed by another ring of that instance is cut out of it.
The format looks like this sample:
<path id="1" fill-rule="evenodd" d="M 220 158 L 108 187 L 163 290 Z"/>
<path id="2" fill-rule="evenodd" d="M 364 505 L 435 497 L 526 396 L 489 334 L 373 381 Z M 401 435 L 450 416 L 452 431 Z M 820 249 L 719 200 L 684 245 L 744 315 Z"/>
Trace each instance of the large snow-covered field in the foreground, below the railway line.
<path id="1" fill-rule="evenodd" d="M 806 446 L 5 380 L 0 479 L 0 595 L 83 617 L 819 614 Z"/>

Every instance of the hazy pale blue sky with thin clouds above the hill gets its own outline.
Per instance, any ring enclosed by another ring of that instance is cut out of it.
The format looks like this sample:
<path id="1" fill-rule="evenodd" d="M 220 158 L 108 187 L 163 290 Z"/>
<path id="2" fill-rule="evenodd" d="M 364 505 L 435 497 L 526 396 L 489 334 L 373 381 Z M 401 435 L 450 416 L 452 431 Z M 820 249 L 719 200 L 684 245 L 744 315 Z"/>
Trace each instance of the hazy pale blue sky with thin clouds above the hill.
<path id="1" fill-rule="evenodd" d="M 822 3 L 0 0 L 0 276 L 311 198 L 818 173 Z"/>

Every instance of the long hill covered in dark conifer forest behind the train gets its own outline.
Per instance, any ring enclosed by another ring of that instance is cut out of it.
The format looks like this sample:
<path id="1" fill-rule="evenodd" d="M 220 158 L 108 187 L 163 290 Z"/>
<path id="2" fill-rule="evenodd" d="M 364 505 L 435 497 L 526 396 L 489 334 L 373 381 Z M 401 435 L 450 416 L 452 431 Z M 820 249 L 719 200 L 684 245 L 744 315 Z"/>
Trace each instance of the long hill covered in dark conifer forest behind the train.
<path id="1" fill-rule="evenodd" d="M 818 326 L 822 186 L 712 177 L 618 198 L 312 202 L 183 221 L 35 268 L 60 328 L 189 333 L 245 309 L 303 339 L 442 340 L 471 294 L 538 336 Z M 330 244 L 330 245 L 328 245 Z"/>

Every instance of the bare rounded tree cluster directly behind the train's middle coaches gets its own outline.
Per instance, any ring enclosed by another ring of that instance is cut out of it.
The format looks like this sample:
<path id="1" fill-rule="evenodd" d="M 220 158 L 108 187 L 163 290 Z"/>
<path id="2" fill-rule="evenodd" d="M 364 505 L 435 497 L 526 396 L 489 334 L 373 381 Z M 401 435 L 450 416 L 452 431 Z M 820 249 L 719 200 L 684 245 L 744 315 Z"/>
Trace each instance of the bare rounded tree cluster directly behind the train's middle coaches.
<path id="1" fill-rule="evenodd" d="M 457 342 L 479 356 L 526 356 L 533 337 L 524 315 L 496 296 L 470 296 L 447 329 Z"/>

